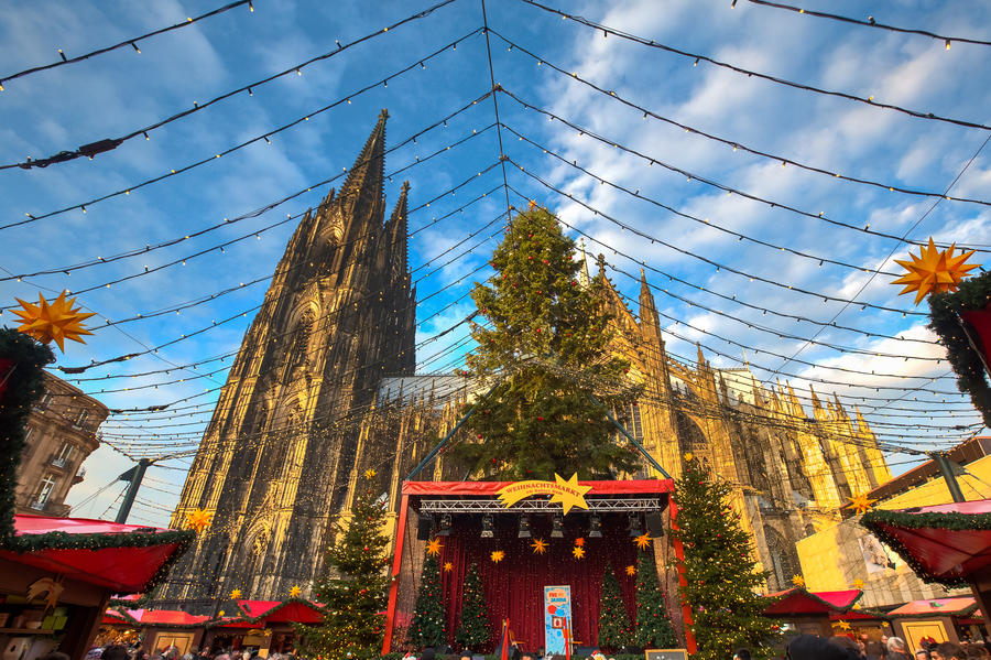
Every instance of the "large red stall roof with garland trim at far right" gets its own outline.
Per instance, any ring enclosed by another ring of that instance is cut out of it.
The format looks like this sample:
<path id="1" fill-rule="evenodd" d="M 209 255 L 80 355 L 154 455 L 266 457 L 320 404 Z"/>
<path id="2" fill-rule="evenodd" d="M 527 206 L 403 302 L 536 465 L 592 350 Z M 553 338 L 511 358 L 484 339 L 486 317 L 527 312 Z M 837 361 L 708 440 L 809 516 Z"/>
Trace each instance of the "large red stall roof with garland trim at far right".
<path id="1" fill-rule="evenodd" d="M 872 510 L 860 522 L 926 582 L 965 586 L 991 566 L 991 499 Z"/>

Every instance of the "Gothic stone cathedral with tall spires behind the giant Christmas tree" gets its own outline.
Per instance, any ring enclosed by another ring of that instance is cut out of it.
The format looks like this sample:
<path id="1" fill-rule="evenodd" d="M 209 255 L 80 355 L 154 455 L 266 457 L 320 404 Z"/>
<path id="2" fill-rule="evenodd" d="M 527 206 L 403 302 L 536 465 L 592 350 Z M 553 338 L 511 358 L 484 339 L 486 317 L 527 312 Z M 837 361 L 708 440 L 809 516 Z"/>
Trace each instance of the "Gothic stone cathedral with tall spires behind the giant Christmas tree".
<path id="1" fill-rule="evenodd" d="M 298 585 L 308 595 L 358 476 L 373 470 L 396 511 L 402 480 L 461 416 L 465 378 L 414 371 L 410 188 L 386 220 L 386 118 L 340 191 L 301 220 L 244 335 L 172 519 L 181 527 L 202 508 L 213 523 L 157 588 L 157 607 L 208 613 L 233 589 L 282 599 Z M 769 589 L 791 586 L 795 542 L 891 477 L 873 433 L 836 398 L 824 404 L 812 392 L 809 418 L 791 386 L 715 368 L 700 349 L 694 364 L 673 358 L 646 280 L 634 314 L 603 270 L 600 258 L 613 349 L 644 385 L 617 416 L 673 476 L 690 452 L 733 484 Z M 456 472 L 439 455 L 417 478 L 465 478 Z M 661 475 L 644 463 L 634 476 Z"/>

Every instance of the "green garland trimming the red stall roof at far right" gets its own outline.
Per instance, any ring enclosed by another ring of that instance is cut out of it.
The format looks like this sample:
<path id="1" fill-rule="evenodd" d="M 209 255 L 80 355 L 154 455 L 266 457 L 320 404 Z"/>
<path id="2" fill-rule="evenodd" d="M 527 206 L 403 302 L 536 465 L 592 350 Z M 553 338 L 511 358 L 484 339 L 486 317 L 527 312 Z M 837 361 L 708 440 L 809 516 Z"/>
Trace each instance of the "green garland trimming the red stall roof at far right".
<path id="1" fill-rule="evenodd" d="M 882 543 L 897 552 L 923 582 L 938 583 L 945 586 L 969 586 L 970 583 L 962 577 L 930 573 L 915 560 L 899 537 L 887 531 L 887 526 L 910 529 L 945 529 L 947 531 L 991 530 L 991 513 L 912 513 L 910 511 L 873 509 L 861 517 L 860 523 L 871 530 L 871 533 L 878 537 Z"/>

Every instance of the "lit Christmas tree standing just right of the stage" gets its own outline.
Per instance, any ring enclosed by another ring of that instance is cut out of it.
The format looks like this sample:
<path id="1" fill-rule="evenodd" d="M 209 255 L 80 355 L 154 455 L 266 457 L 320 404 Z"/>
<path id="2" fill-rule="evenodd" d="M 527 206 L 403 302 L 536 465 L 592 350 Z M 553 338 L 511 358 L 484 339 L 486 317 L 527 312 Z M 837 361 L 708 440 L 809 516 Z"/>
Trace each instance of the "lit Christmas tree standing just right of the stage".
<path id="1" fill-rule="evenodd" d="M 701 462 L 685 455 L 685 469 L 675 483 L 678 529 L 685 545 L 682 595 L 691 607 L 691 632 L 699 660 L 726 660 L 739 648 L 754 658 L 770 658 L 775 634 L 762 615 L 766 603 L 758 595 L 765 575 L 752 555 L 750 534 L 729 505 L 730 486 L 709 475 Z"/>

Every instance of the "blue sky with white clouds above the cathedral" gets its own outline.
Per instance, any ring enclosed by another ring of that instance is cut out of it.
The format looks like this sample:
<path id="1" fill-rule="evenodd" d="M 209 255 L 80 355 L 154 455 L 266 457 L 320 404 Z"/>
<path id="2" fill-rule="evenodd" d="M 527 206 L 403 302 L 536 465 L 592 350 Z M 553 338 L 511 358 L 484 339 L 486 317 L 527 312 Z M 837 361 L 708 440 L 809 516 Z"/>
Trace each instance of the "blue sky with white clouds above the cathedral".
<path id="1" fill-rule="evenodd" d="M 736 8 L 729 0 L 547 4 L 740 68 L 940 117 L 991 122 L 988 46 L 951 43 L 947 50 L 941 41 L 925 36 L 837 23 L 747 0 Z M 802 0 L 802 4 L 952 36 L 991 39 L 991 8 L 982 2 Z M 11 7 L 0 15 L 0 39 L 7 46 L 0 76 L 53 62 L 58 48 L 76 56 L 218 6 L 162 0 Z M 94 288 L 80 294 L 79 302 L 98 313 L 91 320 L 96 334 L 85 346 L 67 347 L 57 364 L 85 365 L 181 339 L 156 354 L 80 376 L 113 377 L 77 383 L 111 408 L 196 397 L 168 412 L 111 416 L 104 428 L 108 444 L 132 456 L 195 446 L 216 397 L 207 390 L 222 385 L 230 358 L 195 369 L 182 367 L 237 350 L 264 294 L 263 278 L 272 272 L 295 226 L 287 216 L 315 205 L 334 183 L 315 184 L 351 165 L 381 108 L 390 111 L 388 137 L 393 145 L 468 106 L 446 125 L 420 134 L 415 143 L 390 153 L 385 170 L 412 165 L 388 183 L 390 203 L 405 178 L 412 184 L 412 207 L 440 196 L 410 216 L 411 230 L 423 228 L 410 239 L 418 297 L 439 292 L 417 307 L 418 340 L 428 340 L 471 311 L 462 296 L 473 280 L 483 277 L 501 223 L 486 226 L 505 209 L 502 170 L 496 164 L 492 100 L 471 105 L 490 90 L 486 39 L 477 31 L 481 6 L 455 0 L 426 18 L 381 32 L 427 7 L 258 0 L 253 12 L 240 7 L 139 42 L 140 54 L 122 48 L 3 82 L 0 164 L 131 133 L 194 104 L 295 68 L 336 50 L 338 40 L 348 44 L 380 32 L 302 68 L 302 75 L 292 72 L 254 86 L 250 96 L 238 94 L 149 131 L 148 140 L 129 140 L 91 161 L 0 171 L 4 199 L 0 224 L 86 204 L 85 214 L 75 208 L 0 230 L 8 246 L 0 267 L 8 277 L 56 271 L 3 281 L 3 305 L 13 303 L 14 296 L 36 297 L 40 289 L 47 294 Z M 758 378 L 787 379 L 796 388 L 813 382 L 817 392 L 835 391 L 845 403 L 858 403 L 875 431 L 900 446 L 945 446 L 980 431 L 968 401 L 955 393 L 947 363 L 936 361 L 944 355 L 929 343 L 933 336 L 924 327 L 925 317 L 860 304 L 916 310 L 908 296 L 896 295 L 899 289 L 885 274 L 899 270 L 889 258 L 905 258 L 907 246 L 854 228 L 869 226 L 911 240 L 930 235 L 956 240 L 984 250 L 973 258 L 984 263 L 991 249 L 989 206 L 937 204 L 934 197 L 783 166 L 781 159 L 894 187 L 941 193 L 952 185 L 950 196 L 988 201 L 991 149 L 981 150 L 988 131 L 696 63 L 695 57 L 603 35 L 521 1 L 490 2 L 488 10 L 496 80 L 520 100 L 551 113 L 498 95 L 510 159 L 510 203 L 523 204 L 519 193 L 558 213 L 571 236 L 580 231 L 588 237 L 590 253 L 606 255 L 610 278 L 633 299 L 639 291 L 635 278 L 644 267 L 656 288 L 667 346 L 675 356 L 694 359 L 693 344 L 698 340 L 708 347 L 715 365 L 737 367 L 745 346 Z M 456 41 L 457 47 L 451 47 Z M 515 44 L 512 50 L 510 43 Z M 390 77 L 411 65 L 406 73 Z M 386 77 L 388 85 L 359 93 Z M 773 158 L 644 117 L 636 107 Z M 271 143 L 258 140 L 215 158 L 265 134 Z M 456 142 L 460 143 L 444 150 Z M 417 164 L 417 158 L 438 150 L 444 151 Z M 205 159 L 211 160 L 137 187 Z M 466 180 L 470 181 L 454 194 L 448 192 Z M 87 204 L 129 188 L 135 190 Z M 727 194 L 726 188 L 737 193 Z M 640 198 L 630 194 L 634 191 Z M 70 269 L 181 239 L 295 193 L 302 194 L 257 217 L 226 223 L 170 247 Z M 817 217 L 819 213 L 854 228 L 831 225 Z M 241 237 L 247 238 L 219 250 L 221 244 Z M 204 250 L 207 253 L 194 257 Z M 155 270 L 172 262 L 176 263 Z M 112 283 L 132 274 L 138 277 Z M 210 299 L 228 290 L 232 291 Z M 178 314 L 172 311 L 199 300 L 206 302 Z M 167 313 L 100 327 L 107 320 L 162 311 Z M 213 327 L 215 321 L 229 317 L 237 318 Z M 8 313 L 0 318 L 11 323 Z M 834 320 L 836 326 L 830 325 Z M 422 371 L 448 371 L 460 365 L 464 349 L 440 351 L 457 345 L 461 329 L 420 346 Z M 807 344 L 807 338 L 817 344 Z M 786 360 L 792 356 L 796 359 Z M 132 376 L 162 369 L 170 372 Z M 891 459 L 899 472 L 912 456 L 893 454 Z M 70 504 L 107 486 L 129 465 L 109 446 L 99 450 L 88 459 L 87 478 L 74 489 Z M 151 488 L 142 494 L 132 520 L 167 521 L 187 466 L 188 459 L 182 459 L 152 468 Z M 111 485 L 74 515 L 112 515 L 122 487 Z"/>

